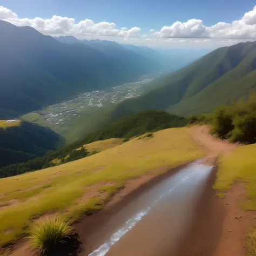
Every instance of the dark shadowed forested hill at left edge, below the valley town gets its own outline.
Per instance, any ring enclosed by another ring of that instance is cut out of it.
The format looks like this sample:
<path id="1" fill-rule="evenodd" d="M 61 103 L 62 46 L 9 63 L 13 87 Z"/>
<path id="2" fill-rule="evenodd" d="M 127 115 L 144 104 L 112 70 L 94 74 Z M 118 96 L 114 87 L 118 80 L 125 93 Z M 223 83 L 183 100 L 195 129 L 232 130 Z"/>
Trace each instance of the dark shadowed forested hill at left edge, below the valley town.
<path id="1" fill-rule="evenodd" d="M 63 139 L 52 130 L 28 122 L 0 128 L 0 167 L 42 157 L 63 145 Z"/>

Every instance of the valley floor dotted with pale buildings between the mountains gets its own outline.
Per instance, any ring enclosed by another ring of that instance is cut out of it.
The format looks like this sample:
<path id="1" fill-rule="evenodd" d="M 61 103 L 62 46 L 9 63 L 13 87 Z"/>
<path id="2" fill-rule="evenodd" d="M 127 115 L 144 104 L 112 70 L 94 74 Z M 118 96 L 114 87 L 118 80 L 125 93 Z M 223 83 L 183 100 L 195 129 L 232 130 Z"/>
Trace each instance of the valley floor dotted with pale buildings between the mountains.
<path id="1" fill-rule="evenodd" d="M 142 95 L 150 90 L 150 82 L 163 76 L 163 72 L 140 76 L 137 82 L 125 83 L 104 90 L 80 93 L 77 97 L 66 102 L 43 107 L 20 118 L 28 122 L 48 126 L 53 131 L 68 136 L 70 129 L 74 129 L 79 120 L 86 123 L 86 119 L 93 116 L 100 108 L 111 106 L 125 99 Z"/>

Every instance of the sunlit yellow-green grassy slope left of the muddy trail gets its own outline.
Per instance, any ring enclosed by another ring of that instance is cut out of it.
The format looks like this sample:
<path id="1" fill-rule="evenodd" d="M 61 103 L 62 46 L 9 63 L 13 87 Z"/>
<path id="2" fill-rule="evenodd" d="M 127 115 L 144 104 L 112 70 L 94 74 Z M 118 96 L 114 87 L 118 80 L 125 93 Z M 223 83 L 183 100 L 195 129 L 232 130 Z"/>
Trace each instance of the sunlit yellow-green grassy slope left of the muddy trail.
<path id="1" fill-rule="evenodd" d="M 75 220 L 103 207 L 127 179 L 155 176 L 203 154 L 187 128 L 174 128 L 68 164 L 1 179 L 0 243 L 24 233 L 31 219 L 44 213 L 55 211 Z M 83 200 L 92 191 L 99 197 Z"/>

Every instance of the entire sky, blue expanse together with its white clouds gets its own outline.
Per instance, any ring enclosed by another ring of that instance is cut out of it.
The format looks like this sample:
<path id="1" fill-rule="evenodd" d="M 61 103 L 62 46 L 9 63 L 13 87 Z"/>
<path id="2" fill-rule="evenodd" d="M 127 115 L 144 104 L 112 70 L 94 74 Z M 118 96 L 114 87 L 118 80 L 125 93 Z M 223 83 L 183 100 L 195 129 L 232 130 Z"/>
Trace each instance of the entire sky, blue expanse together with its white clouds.
<path id="1" fill-rule="evenodd" d="M 153 48 L 218 48 L 256 40 L 246 0 L 0 0 L 0 19 L 50 36 Z"/>

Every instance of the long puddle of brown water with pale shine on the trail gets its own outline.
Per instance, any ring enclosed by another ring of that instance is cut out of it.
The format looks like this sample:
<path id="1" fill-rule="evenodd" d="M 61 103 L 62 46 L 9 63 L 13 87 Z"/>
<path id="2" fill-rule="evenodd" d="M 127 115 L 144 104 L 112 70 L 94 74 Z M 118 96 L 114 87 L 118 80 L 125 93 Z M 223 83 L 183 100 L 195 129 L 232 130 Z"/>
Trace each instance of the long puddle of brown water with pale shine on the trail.
<path id="1" fill-rule="evenodd" d="M 195 161 L 141 194 L 110 218 L 102 228 L 102 238 L 97 237 L 98 244 L 102 239 L 101 245 L 85 255 L 171 255 L 191 225 L 212 168 L 201 160 Z M 117 227 L 117 221 L 124 216 L 126 221 Z"/>

